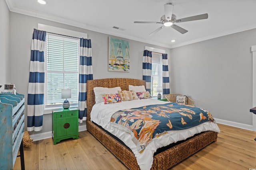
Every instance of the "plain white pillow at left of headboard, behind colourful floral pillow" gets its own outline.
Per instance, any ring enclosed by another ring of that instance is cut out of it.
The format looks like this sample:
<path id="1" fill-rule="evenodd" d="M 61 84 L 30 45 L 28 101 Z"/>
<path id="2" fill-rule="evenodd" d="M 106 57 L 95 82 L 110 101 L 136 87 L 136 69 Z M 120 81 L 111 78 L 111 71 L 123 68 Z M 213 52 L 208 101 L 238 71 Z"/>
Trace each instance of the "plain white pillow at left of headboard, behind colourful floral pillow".
<path id="1" fill-rule="evenodd" d="M 106 87 L 94 87 L 95 103 L 103 102 L 102 94 L 117 94 L 120 87 L 106 88 Z"/>

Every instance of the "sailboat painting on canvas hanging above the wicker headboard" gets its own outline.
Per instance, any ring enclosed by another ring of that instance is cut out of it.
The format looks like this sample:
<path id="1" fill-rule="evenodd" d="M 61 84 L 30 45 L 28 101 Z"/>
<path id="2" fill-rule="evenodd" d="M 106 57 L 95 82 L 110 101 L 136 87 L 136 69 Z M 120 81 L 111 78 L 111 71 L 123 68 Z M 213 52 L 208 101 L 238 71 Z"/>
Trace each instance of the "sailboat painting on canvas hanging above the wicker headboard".
<path id="1" fill-rule="evenodd" d="M 130 71 L 130 41 L 108 37 L 108 71 Z"/>

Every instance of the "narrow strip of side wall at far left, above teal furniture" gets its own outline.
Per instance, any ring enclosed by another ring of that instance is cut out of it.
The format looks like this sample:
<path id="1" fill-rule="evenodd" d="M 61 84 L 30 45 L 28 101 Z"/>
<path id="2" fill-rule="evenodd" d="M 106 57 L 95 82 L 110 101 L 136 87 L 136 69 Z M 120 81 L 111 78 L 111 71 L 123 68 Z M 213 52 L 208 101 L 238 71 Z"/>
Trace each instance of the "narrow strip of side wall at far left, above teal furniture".
<path id="1" fill-rule="evenodd" d="M 0 0 L 0 92 L 4 90 L 4 84 L 8 82 L 10 66 L 9 66 L 9 51 L 10 51 L 10 11 L 6 2 Z"/>

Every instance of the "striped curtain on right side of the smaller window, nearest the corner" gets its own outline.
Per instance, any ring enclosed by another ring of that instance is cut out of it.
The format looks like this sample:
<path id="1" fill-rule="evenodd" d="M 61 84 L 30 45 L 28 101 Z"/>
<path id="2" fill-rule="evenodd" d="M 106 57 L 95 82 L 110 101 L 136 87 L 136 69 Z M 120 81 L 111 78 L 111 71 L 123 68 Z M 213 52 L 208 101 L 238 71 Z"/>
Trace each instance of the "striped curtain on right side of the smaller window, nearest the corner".
<path id="1" fill-rule="evenodd" d="M 168 59 L 167 54 L 162 54 L 163 59 L 163 96 L 170 94 L 170 80 L 168 70 Z"/>

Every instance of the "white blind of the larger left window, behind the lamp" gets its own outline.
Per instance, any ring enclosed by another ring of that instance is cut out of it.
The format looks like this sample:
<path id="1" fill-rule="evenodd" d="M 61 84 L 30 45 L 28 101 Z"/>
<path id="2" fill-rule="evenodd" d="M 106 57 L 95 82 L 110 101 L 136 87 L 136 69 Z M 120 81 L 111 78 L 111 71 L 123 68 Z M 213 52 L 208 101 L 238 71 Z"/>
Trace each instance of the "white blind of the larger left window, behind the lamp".
<path id="1" fill-rule="evenodd" d="M 45 48 L 45 105 L 62 104 L 62 89 L 71 89 L 70 104 L 78 103 L 79 39 L 47 33 Z"/>

